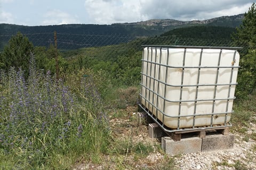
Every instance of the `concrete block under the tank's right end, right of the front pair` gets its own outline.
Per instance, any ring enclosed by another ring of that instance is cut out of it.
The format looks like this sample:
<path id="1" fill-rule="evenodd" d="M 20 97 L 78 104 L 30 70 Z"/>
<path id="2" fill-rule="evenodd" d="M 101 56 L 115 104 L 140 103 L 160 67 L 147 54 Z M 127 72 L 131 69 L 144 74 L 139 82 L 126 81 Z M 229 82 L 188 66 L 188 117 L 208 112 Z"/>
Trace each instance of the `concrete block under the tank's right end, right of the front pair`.
<path id="1" fill-rule="evenodd" d="M 231 149 L 234 147 L 235 135 L 229 133 L 206 135 L 202 139 L 202 151 L 211 151 L 219 149 Z"/>

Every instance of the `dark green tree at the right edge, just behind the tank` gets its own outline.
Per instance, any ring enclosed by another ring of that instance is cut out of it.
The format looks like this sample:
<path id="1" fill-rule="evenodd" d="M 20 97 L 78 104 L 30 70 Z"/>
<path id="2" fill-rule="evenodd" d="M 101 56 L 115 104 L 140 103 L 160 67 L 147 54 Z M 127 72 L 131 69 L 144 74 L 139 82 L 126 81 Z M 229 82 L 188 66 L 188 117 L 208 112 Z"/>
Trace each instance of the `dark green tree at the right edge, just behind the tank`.
<path id="1" fill-rule="evenodd" d="M 244 14 L 242 25 L 236 29 L 233 40 L 237 46 L 244 47 L 240 52 L 238 86 L 236 96 L 246 97 L 256 87 L 256 4 Z"/>

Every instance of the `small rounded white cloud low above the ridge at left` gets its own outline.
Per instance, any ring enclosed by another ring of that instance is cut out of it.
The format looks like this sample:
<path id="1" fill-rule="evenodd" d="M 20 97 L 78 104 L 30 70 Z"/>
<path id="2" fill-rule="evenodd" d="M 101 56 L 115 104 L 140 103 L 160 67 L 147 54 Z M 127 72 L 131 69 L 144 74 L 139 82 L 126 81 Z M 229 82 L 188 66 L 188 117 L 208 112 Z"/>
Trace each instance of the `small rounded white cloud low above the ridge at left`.
<path id="1" fill-rule="evenodd" d="M 69 13 L 60 10 L 51 10 L 45 13 L 43 25 L 59 25 L 59 24 L 80 23 L 77 16 L 71 16 Z"/>

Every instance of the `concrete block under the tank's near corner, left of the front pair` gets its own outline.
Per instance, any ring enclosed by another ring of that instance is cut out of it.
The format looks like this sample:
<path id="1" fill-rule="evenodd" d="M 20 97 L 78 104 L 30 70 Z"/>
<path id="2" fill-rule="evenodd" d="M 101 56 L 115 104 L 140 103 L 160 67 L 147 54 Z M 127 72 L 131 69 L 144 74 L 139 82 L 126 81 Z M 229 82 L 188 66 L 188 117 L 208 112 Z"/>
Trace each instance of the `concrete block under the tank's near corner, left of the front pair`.
<path id="1" fill-rule="evenodd" d="M 178 155 L 201 151 L 202 139 L 198 137 L 184 138 L 174 141 L 171 137 L 162 138 L 162 149 L 166 154 Z"/>

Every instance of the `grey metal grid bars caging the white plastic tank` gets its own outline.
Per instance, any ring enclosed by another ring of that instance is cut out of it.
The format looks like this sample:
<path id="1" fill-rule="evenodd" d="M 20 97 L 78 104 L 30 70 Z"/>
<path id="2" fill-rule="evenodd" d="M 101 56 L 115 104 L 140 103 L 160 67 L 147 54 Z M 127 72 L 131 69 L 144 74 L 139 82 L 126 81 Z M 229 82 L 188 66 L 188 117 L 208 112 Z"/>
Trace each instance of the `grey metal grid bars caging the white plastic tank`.
<path id="1" fill-rule="evenodd" d="M 147 60 L 141 60 L 142 61 L 142 71 L 141 71 L 141 92 L 142 92 L 142 88 L 145 88 L 145 97 L 142 96 L 142 94 L 140 94 L 140 98 L 142 100 L 142 98 L 145 100 L 145 103 L 148 103 L 148 106 L 143 106 L 141 104 L 139 104 L 139 106 L 143 109 L 143 111 L 145 111 L 151 118 L 153 118 L 153 120 L 155 120 L 155 122 L 166 132 L 180 132 L 180 131 L 193 131 L 195 129 L 212 129 L 213 128 L 213 124 L 212 124 L 212 120 L 214 115 L 220 115 L 220 114 L 225 114 L 225 124 L 224 125 L 217 125 L 214 126 L 214 128 L 226 128 L 231 126 L 230 122 L 227 122 L 227 115 L 233 113 L 233 111 L 228 112 L 228 105 L 229 105 L 229 100 L 233 100 L 235 99 L 235 97 L 230 98 L 230 89 L 231 86 L 236 85 L 237 83 L 232 83 L 232 79 L 233 79 L 233 71 L 235 68 L 239 68 L 239 66 L 234 66 L 234 64 L 232 64 L 231 66 L 220 66 L 220 60 L 221 60 L 221 54 L 222 54 L 222 49 L 232 49 L 235 50 L 234 53 L 234 57 L 233 57 L 233 61 L 235 61 L 235 56 L 236 56 L 236 50 L 237 49 L 242 49 L 241 47 L 209 47 L 209 46 L 158 46 L 158 45 L 142 45 L 142 47 L 146 47 L 148 50 L 147 53 Z M 183 63 L 182 63 L 182 67 L 181 66 L 170 66 L 168 65 L 169 63 L 169 49 L 170 48 L 183 48 L 184 49 L 184 53 L 183 53 Z M 197 49 L 201 49 L 201 53 L 199 56 L 199 64 L 198 66 L 185 66 L 185 60 L 186 60 L 186 51 L 187 48 L 197 48 Z M 156 61 L 156 55 L 157 55 L 157 49 L 160 50 L 160 54 L 159 54 L 159 62 L 157 63 Z M 167 62 L 166 64 L 162 64 L 162 49 L 167 49 Z M 204 49 L 220 49 L 220 53 L 219 53 L 219 59 L 218 59 L 218 65 L 217 66 L 201 66 L 201 62 L 202 62 L 202 54 L 203 54 L 203 50 Z M 151 55 L 149 56 L 149 50 L 151 50 Z M 155 61 L 153 62 L 153 50 L 155 50 Z M 143 52 L 143 56 L 144 56 L 144 52 Z M 150 60 L 149 60 L 150 57 Z M 143 62 L 146 62 L 147 64 L 143 64 Z M 145 74 L 143 73 L 143 69 L 144 66 L 146 65 L 146 73 L 149 74 Z M 152 67 L 154 67 L 154 75 L 152 75 Z M 161 74 L 161 67 L 166 67 L 165 70 L 165 82 L 160 81 L 160 74 Z M 182 74 L 181 74 L 181 84 L 180 85 L 172 85 L 172 84 L 167 84 L 167 74 L 168 74 L 168 69 L 167 68 L 177 68 L 177 69 L 182 69 Z M 200 79 L 200 73 L 201 73 L 201 69 L 217 69 L 217 74 L 216 74 L 216 78 L 215 78 L 215 83 L 214 84 L 199 84 L 199 79 Z M 222 68 L 230 68 L 231 69 L 231 75 L 230 75 L 230 81 L 228 84 L 218 84 L 218 74 L 219 74 L 219 70 Z M 157 71 L 158 69 L 158 71 Z M 198 74 L 197 74 L 197 84 L 183 84 L 183 79 L 184 79 L 184 72 L 185 69 L 198 69 Z M 158 78 L 156 79 L 156 72 L 158 72 Z M 145 82 L 143 82 L 143 76 L 146 77 Z M 148 87 L 151 87 L 151 81 L 153 80 L 153 89 L 150 89 Z M 155 81 L 158 81 L 157 83 L 157 87 L 155 87 Z M 147 84 L 149 82 L 149 84 Z M 164 96 L 159 95 L 159 83 L 164 84 Z M 144 85 L 146 84 L 146 86 Z M 180 97 L 179 100 L 168 100 L 166 99 L 166 88 L 167 87 L 180 87 Z M 214 86 L 214 95 L 212 99 L 197 99 L 198 96 L 198 88 L 201 86 Z M 229 86 L 228 89 L 228 97 L 227 98 L 216 98 L 216 91 L 217 91 L 217 86 Z M 196 94 L 195 94 L 195 99 L 194 100 L 182 100 L 182 90 L 183 87 L 196 87 Z M 157 88 L 157 89 L 156 89 Z M 150 96 L 150 94 L 152 94 L 153 96 Z M 154 95 L 156 95 L 156 102 L 154 101 Z M 152 97 L 152 102 L 150 102 L 150 98 Z M 158 107 L 159 107 L 159 98 L 162 98 L 164 103 L 164 107 L 163 107 L 163 111 L 161 111 Z M 217 100 L 227 100 L 227 106 L 226 106 L 226 112 L 221 112 L 221 113 L 214 113 L 214 106 L 215 106 L 215 101 Z M 213 101 L 213 105 L 212 105 L 212 113 L 205 113 L 205 114 L 196 114 L 196 106 L 197 106 L 197 102 L 198 101 Z M 166 115 L 165 114 L 165 105 L 166 102 L 170 102 L 170 103 L 179 103 L 179 113 L 178 116 L 172 116 L 172 115 Z M 181 115 L 181 104 L 183 102 L 194 102 L 195 106 L 194 106 L 194 113 L 191 115 Z M 156 105 L 154 104 L 156 103 Z M 152 109 L 156 109 L 156 114 L 153 115 L 153 113 L 149 112 L 150 106 L 152 107 Z M 153 108 L 154 107 L 154 108 Z M 158 117 L 158 113 L 162 114 L 162 122 L 157 120 Z M 204 116 L 204 115 L 211 115 L 211 124 L 210 126 L 206 126 L 206 127 L 195 127 L 195 119 L 196 116 Z M 173 118 L 178 118 L 178 127 L 177 129 L 169 129 L 166 128 L 166 126 L 164 126 L 164 118 L 166 117 L 173 117 Z M 191 128 L 186 128 L 186 129 L 180 129 L 180 118 L 181 117 L 189 117 L 192 116 L 193 117 L 193 127 Z"/>

